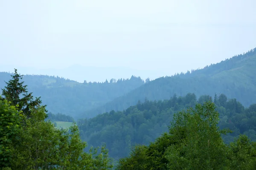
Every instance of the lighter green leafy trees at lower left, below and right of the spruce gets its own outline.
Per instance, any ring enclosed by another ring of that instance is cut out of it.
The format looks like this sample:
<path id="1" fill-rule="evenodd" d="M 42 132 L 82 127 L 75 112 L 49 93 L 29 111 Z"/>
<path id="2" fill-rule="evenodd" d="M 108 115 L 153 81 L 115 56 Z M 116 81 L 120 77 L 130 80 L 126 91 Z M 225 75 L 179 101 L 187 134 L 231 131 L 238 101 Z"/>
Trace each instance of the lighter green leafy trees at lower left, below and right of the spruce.
<path id="1" fill-rule="evenodd" d="M 21 142 L 16 147 L 15 162 L 11 167 L 23 169 L 65 169 L 102 170 L 111 168 L 106 150 L 99 155 L 91 151 L 85 153 L 85 142 L 81 142 L 76 125 L 68 130 L 54 128 L 51 122 L 44 121 L 44 109 L 35 110 L 27 128 L 21 133 Z"/>

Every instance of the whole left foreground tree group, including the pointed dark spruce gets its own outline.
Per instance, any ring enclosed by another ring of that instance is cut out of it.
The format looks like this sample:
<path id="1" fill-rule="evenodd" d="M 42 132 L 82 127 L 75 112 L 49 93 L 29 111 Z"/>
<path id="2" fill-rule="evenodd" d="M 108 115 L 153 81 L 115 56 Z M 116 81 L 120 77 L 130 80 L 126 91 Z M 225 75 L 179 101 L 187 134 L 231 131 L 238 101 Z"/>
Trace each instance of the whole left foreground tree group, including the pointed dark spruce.
<path id="1" fill-rule="evenodd" d="M 1 169 L 109 170 L 113 167 L 105 146 L 100 152 L 98 148 L 84 152 L 87 145 L 81 141 L 76 125 L 64 130 L 46 122 L 45 106 L 40 106 L 39 100 L 32 101 L 32 93 L 27 95 L 26 86 L 19 84 L 19 78 L 15 70 L 15 81 L 7 83 L 3 91 L 5 99 L 0 100 Z M 20 99 L 22 92 L 24 98 Z"/>

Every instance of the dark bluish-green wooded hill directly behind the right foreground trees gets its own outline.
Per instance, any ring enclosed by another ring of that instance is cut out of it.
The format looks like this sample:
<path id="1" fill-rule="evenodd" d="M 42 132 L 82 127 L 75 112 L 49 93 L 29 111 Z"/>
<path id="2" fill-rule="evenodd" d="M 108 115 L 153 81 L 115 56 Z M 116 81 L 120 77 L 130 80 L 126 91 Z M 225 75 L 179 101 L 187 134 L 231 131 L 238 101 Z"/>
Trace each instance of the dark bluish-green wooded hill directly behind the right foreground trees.
<path id="1" fill-rule="evenodd" d="M 215 103 L 220 114 L 219 127 L 229 128 L 233 133 L 223 136 L 226 143 L 232 142 L 239 134 L 246 134 L 256 140 L 256 104 L 249 108 L 236 99 L 227 99 L 221 94 L 211 99 L 208 95 L 186 94 L 183 97 L 172 96 L 169 100 L 138 102 L 125 111 L 111 111 L 92 119 L 80 119 L 77 123 L 81 139 L 89 145 L 106 143 L 109 154 L 115 159 L 127 156 L 134 144 L 149 144 L 168 131 L 174 113 L 197 103 L 206 101 Z"/>

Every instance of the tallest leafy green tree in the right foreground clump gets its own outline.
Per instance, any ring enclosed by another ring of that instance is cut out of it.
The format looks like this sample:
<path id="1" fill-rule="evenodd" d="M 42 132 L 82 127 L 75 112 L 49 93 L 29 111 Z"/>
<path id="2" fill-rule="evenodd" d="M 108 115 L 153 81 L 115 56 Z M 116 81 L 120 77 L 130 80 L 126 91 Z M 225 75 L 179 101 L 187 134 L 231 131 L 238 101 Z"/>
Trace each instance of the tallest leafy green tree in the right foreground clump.
<path id="1" fill-rule="evenodd" d="M 225 169 L 226 146 L 218 116 L 212 102 L 175 114 L 169 133 L 176 144 L 165 153 L 169 169 Z"/>

